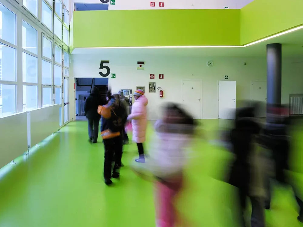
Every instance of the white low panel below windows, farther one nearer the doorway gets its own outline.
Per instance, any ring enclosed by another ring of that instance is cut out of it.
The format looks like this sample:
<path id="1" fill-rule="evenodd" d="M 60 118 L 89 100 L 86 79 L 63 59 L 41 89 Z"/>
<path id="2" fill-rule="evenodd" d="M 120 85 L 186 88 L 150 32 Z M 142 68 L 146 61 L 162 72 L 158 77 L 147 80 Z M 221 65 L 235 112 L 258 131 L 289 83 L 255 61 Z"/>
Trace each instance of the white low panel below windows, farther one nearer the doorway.
<path id="1" fill-rule="evenodd" d="M 52 105 L 27 112 L 29 147 L 59 130 L 59 107 L 60 105 Z"/>

